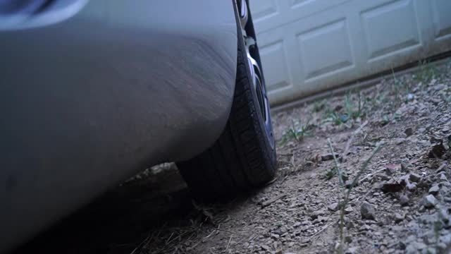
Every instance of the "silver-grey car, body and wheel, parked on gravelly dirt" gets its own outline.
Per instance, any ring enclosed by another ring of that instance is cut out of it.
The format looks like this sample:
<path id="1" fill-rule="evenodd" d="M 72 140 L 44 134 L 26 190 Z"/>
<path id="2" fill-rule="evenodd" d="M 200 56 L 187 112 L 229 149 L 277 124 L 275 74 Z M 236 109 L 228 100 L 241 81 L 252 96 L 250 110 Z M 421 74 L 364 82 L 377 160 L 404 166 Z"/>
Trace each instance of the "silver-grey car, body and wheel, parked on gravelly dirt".
<path id="1" fill-rule="evenodd" d="M 248 0 L 0 1 L 0 252 L 149 166 L 194 197 L 271 181 Z"/>

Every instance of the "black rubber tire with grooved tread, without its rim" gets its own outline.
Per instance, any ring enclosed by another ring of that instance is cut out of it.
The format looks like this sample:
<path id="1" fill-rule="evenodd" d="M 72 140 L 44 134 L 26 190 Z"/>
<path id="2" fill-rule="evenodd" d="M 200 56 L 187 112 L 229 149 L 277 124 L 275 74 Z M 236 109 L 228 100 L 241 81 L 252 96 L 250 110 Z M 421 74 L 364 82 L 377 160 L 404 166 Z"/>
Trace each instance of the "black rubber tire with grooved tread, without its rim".
<path id="1" fill-rule="evenodd" d="M 226 128 L 208 150 L 187 162 L 177 163 L 196 198 L 233 198 L 264 185 L 276 174 L 271 119 L 268 114 L 266 118 L 269 118 L 271 128 L 268 130 L 268 122 L 265 124 L 256 90 L 252 87 L 249 68 L 239 29 L 235 94 Z"/>

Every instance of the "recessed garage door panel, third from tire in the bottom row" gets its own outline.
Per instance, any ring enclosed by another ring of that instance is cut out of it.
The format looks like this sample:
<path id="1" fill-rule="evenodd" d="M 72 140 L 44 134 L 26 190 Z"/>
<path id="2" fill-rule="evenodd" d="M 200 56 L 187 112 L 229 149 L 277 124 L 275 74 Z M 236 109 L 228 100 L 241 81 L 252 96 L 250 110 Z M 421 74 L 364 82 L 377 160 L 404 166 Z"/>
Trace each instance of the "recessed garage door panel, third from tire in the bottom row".
<path id="1" fill-rule="evenodd" d="M 369 59 L 420 44 L 412 1 L 394 1 L 362 12 Z"/>

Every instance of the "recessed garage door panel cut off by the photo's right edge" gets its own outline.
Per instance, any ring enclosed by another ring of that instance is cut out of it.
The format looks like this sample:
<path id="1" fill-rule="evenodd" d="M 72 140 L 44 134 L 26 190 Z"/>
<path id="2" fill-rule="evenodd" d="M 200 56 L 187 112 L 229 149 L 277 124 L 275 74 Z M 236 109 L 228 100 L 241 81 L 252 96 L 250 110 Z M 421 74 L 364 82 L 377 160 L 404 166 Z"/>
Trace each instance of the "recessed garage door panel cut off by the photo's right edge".
<path id="1" fill-rule="evenodd" d="M 451 1 L 450 0 L 433 0 L 431 1 L 433 11 L 433 23 L 435 37 L 451 36 Z"/>

